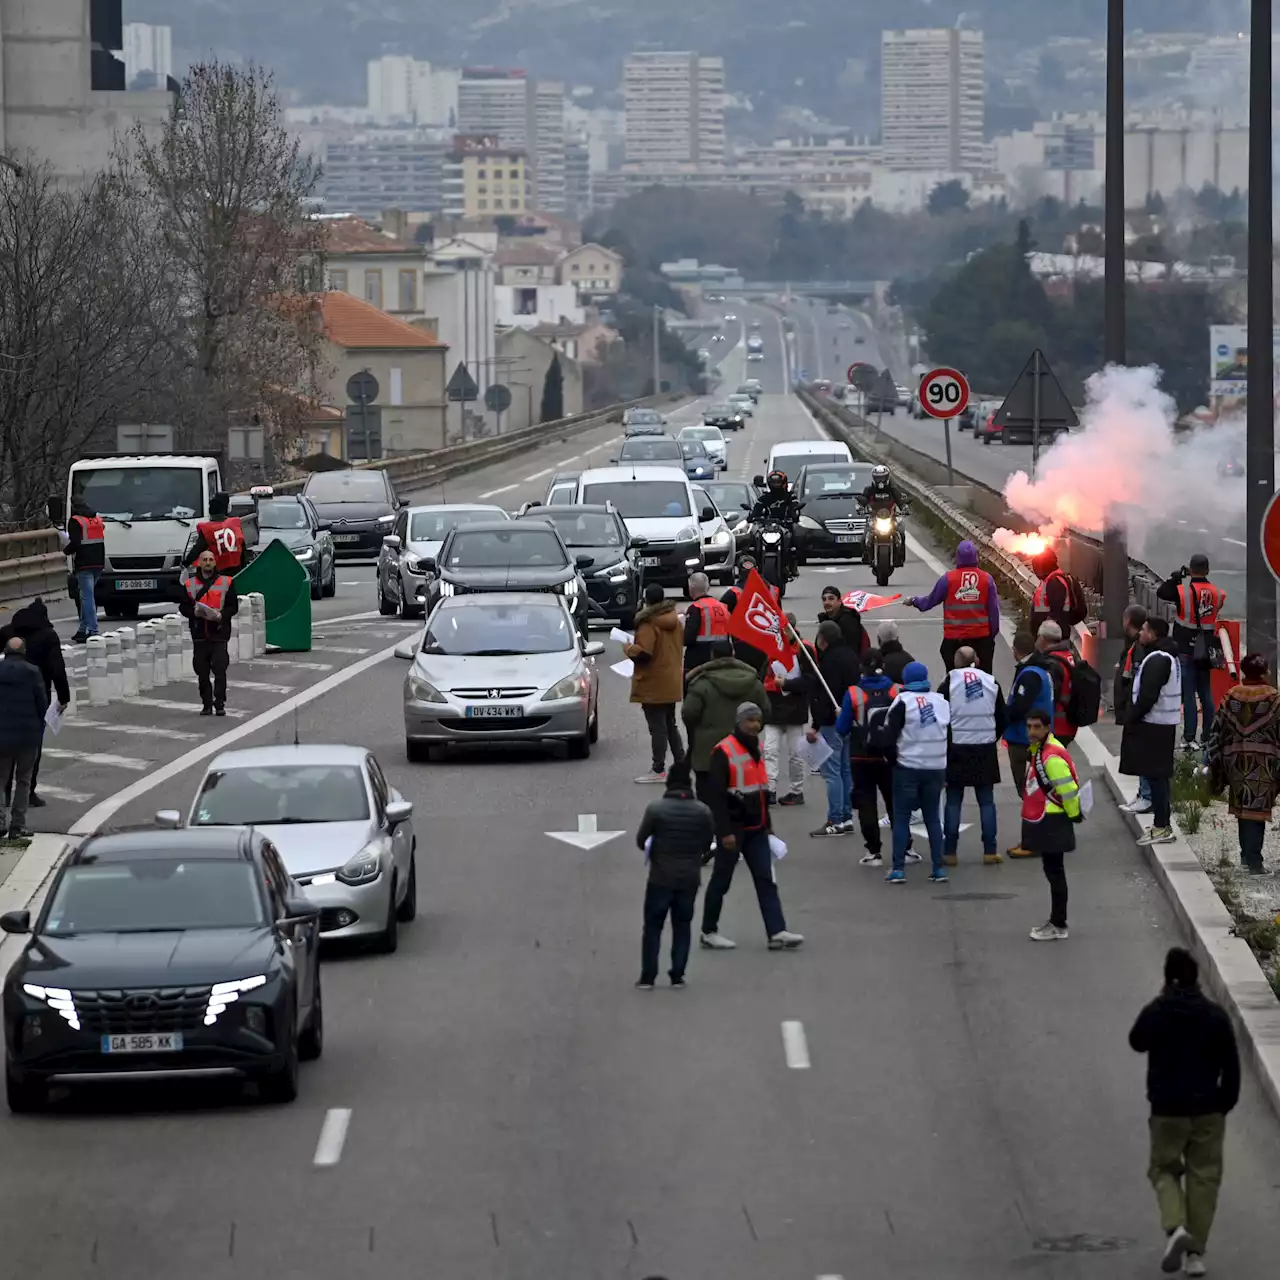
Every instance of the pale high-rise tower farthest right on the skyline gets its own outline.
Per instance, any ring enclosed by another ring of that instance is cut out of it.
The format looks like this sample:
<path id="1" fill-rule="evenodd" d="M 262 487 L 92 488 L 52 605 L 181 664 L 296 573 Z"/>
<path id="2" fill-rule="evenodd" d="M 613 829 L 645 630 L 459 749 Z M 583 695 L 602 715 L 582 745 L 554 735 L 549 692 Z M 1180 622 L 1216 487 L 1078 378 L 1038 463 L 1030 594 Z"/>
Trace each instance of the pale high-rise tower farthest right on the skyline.
<path id="1" fill-rule="evenodd" d="M 890 169 L 986 168 L 984 99 L 980 31 L 881 33 L 881 146 Z"/>

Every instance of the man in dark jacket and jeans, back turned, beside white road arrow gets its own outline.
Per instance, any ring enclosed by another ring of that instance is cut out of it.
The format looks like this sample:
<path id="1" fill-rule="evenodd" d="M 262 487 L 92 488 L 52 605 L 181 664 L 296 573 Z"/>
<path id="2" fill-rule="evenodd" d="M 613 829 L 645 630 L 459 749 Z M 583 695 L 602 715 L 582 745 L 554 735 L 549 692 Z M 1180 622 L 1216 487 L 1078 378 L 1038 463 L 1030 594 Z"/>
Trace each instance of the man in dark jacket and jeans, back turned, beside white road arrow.
<path id="1" fill-rule="evenodd" d="M 712 812 L 694 799 L 689 760 L 667 771 L 667 791 L 640 819 L 636 844 L 648 841 L 649 883 L 644 892 L 644 937 L 640 943 L 640 991 L 653 991 L 658 980 L 662 929 L 671 913 L 671 984 L 685 986 L 685 966 L 692 941 L 694 906 L 701 884 L 703 861 L 716 840 Z"/>

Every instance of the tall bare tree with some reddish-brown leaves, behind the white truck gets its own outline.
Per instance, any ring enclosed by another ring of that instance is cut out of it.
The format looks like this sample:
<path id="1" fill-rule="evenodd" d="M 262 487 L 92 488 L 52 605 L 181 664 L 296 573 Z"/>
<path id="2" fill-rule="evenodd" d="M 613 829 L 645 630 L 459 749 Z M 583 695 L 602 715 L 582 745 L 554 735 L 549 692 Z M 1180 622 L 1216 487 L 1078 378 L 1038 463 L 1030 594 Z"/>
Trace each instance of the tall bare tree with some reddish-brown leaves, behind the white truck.
<path id="1" fill-rule="evenodd" d="M 193 67 L 163 132 L 134 131 L 127 164 L 148 197 L 178 300 L 159 337 L 182 370 L 182 442 L 218 447 L 229 424 L 301 403 L 279 392 L 315 396 L 324 335 L 311 291 L 324 242 L 307 200 L 319 169 L 287 131 L 271 76 Z"/>

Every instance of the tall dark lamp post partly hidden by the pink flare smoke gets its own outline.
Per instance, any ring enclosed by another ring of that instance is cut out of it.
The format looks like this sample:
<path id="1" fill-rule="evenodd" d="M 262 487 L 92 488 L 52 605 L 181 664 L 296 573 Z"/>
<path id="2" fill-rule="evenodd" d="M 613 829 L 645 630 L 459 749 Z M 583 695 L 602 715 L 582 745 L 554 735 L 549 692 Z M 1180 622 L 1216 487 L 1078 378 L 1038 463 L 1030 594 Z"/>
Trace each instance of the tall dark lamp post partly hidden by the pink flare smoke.
<path id="1" fill-rule="evenodd" d="M 1124 243 L 1124 0 L 1107 0 L 1107 165 L 1106 259 L 1103 274 L 1103 358 L 1108 365 L 1128 361 L 1125 340 Z M 1124 530 L 1108 525 L 1102 531 L 1102 662 L 1103 671 L 1120 658 L 1124 611 L 1129 603 L 1129 548 Z"/>

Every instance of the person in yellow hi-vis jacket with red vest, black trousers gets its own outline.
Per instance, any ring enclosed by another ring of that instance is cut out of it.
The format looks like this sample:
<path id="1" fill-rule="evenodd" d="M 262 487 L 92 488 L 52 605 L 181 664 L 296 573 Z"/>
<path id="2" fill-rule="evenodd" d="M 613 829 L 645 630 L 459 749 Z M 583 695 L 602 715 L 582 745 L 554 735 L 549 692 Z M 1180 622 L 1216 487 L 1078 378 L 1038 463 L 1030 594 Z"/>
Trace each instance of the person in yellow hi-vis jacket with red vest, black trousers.
<path id="1" fill-rule="evenodd" d="M 1023 836 L 1019 845 L 1039 855 L 1048 881 L 1048 920 L 1032 929 L 1033 942 L 1065 942 L 1066 863 L 1075 849 L 1075 827 L 1084 820 L 1080 780 L 1070 753 L 1053 736 L 1052 712 L 1037 708 L 1027 716 L 1030 755 L 1023 794 Z"/>

